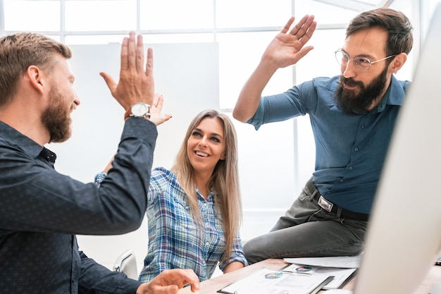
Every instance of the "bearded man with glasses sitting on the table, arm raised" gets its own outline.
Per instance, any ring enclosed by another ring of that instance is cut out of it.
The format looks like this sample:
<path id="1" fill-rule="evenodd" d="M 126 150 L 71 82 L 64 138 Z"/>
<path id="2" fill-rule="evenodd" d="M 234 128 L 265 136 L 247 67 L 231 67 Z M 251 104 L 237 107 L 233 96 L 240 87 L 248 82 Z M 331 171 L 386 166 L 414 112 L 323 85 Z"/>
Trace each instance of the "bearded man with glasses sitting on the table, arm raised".
<path id="1" fill-rule="evenodd" d="M 282 94 L 261 97 L 278 68 L 313 47 L 313 16 L 291 18 L 268 45 L 240 92 L 233 116 L 259 129 L 263 123 L 309 114 L 316 166 L 297 200 L 270 233 L 244 244 L 248 262 L 268 258 L 358 255 L 387 147 L 407 81 L 394 77 L 413 45 L 408 18 L 390 8 L 356 16 L 335 51 L 341 75 L 314 78 Z M 277 184 L 277 183 L 274 183 Z"/>

